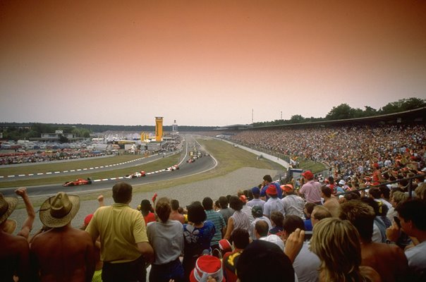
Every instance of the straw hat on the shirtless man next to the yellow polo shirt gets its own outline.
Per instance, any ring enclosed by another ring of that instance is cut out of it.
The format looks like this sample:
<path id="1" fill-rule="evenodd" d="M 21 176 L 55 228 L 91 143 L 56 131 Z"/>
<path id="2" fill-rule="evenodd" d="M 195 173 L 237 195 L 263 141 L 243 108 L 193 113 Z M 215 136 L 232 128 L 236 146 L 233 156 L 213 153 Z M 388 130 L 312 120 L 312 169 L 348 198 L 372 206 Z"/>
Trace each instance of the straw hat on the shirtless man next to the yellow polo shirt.
<path id="1" fill-rule="evenodd" d="M 40 207 L 40 221 L 51 228 L 66 226 L 80 209 L 80 197 L 58 192 L 49 197 Z"/>

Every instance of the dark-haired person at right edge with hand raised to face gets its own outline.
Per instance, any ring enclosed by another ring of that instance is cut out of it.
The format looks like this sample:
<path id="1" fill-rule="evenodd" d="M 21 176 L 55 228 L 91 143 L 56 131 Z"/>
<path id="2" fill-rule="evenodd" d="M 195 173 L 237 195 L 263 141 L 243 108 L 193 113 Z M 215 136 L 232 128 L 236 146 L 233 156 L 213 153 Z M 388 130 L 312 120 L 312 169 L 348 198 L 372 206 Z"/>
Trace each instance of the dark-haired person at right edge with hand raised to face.
<path id="1" fill-rule="evenodd" d="M 418 281 L 426 281 L 426 202 L 420 199 L 406 200 L 396 207 L 401 228 L 394 222 L 387 228 L 387 237 L 396 242 L 400 229 L 418 240 L 418 245 L 406 250 L 408 267 Z"/>

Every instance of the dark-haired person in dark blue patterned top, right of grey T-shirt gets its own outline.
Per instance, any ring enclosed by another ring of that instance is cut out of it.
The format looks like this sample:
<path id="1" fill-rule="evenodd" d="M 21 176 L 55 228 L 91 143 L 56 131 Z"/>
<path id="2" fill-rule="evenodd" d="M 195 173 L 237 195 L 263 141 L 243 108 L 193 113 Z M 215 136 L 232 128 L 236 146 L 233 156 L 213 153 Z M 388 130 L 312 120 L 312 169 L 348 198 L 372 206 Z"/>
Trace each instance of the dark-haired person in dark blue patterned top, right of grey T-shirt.
<path id="1" fill-rule="evenodd" d="M 182 264 L 185 281 L 188 281 L 190 271 L 194 269 L 197 258 L 202 255 L 204 250 L 210 250 L 210 243 L 216 232 L 212 221 L 205 221 L 207 216 L 200 202 L 190 204 L 187 209 L 188 223 L 183 224 L 185 247 Z"/>

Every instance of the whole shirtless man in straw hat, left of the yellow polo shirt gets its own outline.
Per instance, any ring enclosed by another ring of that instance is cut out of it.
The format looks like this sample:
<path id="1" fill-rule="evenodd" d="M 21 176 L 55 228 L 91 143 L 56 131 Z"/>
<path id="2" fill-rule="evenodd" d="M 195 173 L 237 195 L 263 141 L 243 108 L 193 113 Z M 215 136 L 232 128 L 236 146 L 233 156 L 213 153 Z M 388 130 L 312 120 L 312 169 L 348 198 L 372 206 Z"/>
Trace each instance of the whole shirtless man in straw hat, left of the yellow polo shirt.
<path id="1" fill-rule="evenodd" d="M 79 208 L 79 197 L 65 192 L 49 197 L 40 207 L 40 221 L 51 228 L 37 235 L 31 244 L 31 263 L 41 281 L 92 281 L 95 272 L 92 238 L 85 231 L 71 227 Z"/>

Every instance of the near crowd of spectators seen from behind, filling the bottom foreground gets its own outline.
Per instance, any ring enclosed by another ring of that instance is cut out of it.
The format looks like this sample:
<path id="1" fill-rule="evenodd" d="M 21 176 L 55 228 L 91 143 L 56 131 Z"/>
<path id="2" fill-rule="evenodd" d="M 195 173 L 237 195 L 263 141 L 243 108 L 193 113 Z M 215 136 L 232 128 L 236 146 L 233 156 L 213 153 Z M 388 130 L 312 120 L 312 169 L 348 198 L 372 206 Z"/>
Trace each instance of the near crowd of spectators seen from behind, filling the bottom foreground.
<path id="1" fill-rule="evenodd" d="M 59 192 L 17 235 L 8 216 L 16 197 L 0 194 L 1 281 L 425 281 L 425 169 L 406 187 L 382 182 L 339 192 L 310 171 L 303 185 L 266 175 L 252 189 L 187 207 L 167 197 L 129 206 L 133 188 L 117 183 L 114 204 L 71 227 L 79 197 Z M 382 180 L 381 180 L 382 181 Z"/>

